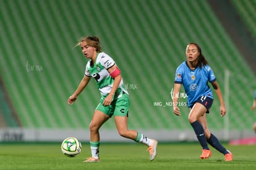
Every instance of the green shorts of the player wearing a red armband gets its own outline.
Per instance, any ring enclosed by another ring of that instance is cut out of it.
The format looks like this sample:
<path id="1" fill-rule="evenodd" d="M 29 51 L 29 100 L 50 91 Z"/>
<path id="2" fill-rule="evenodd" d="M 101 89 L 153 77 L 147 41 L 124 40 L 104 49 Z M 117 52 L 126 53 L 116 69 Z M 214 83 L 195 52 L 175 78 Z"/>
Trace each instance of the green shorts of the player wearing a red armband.
<path id="1" fill-rule="evenodd" d="M 107 114 L 109 117 L 114 116 L 127 116 L 129 109 L 129 95 L 124 93 L 120 98 L 113 100 L 109 106 L 103 106 L 103 98 L 95 110 L 101 111 Z"/>

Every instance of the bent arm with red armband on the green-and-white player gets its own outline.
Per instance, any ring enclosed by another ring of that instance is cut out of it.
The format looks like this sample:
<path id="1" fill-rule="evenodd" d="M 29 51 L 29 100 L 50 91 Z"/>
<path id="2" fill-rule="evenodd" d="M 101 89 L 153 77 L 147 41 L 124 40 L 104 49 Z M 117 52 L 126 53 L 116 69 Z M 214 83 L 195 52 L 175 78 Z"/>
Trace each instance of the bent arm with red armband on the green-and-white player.
<path id="1" fill-rule="evenodd" d="M 109 92 L 108 96 L 106 96 L 105 100 L 103 101 L 103 106 L 109 106 L 113 100 L 114 93 L 119 86 L 119 83 L 122 80 L 121 70 L 117 67 L 116 64 L 108 69 L 110 76 L 114 79 L 113 87 Z"/>

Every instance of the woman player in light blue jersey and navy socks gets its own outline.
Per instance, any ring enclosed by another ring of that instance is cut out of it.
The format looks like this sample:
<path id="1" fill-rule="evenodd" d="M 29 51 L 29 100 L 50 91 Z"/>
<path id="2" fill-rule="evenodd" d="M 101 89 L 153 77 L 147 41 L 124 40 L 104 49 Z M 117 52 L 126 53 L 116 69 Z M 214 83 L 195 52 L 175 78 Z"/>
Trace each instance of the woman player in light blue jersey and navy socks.
<path id="1" fill-rule="evenodd" d="M 207 114 L 213 104 L 213 93 L 208 86 L 208 82 L 213 85 L 215 92 L 220 100 L 220 114 L 226 114 L 223 97 L 220 87 L 216 81 L 213 70 L 208 66 L 208 62 L 202 54 L 200 46 L 196 43 L 189 43 L 186 48 L 187 61 L 177 67 L 174 80 L 173 111 L 177 116 L 181 115 L 178 107 L 178 96 L 181 85 L 187 93 L 187 106 L 190 108 L 189 122 L 192 125 L 198 142 L 203 148 L 201 159 L 211 156 L 207 142 L 216 150 L 224 155 L 226 161 L 232 161 L 233 155 L 221 145 L 218 138 L 211 134 L 207 127 Z"/>

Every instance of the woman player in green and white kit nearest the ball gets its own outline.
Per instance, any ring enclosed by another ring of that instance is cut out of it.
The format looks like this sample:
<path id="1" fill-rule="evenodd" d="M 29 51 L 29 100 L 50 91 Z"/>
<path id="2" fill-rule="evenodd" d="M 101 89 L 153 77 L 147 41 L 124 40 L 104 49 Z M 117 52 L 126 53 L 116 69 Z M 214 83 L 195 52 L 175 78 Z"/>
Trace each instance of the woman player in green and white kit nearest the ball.
<path id="1" fill-rule="evenodd" d="M 100 161 L 99 129 L 112 116 L 114 116 L 119 135 L 147 145 L 150 160 L 153 161 L 157 154 L 156 147 L 158 142 L 145 137 L 145 135 L 140 134 L 136 130 L 129 130 L 127 128 L 129 95 L 122 80 L 121 70 L 117 67 L 116 62 L 108 54 L 101 51 L 100 40 L 97 36 L 83 37 L 77 46 L 80 46 L 85 58 L 90 60 L 86 64 L 83 79 L 74 94 L 69 97 L 67 103 L 74 103 L 77 96 L 87 86 L 91 77 L 96 80 L 96 85 L 101 93 L 100 103 L 96 107 L 90 123 L 90 148 L 92 157 L 87 158 L 85 162 L 92 163 Z"/>

